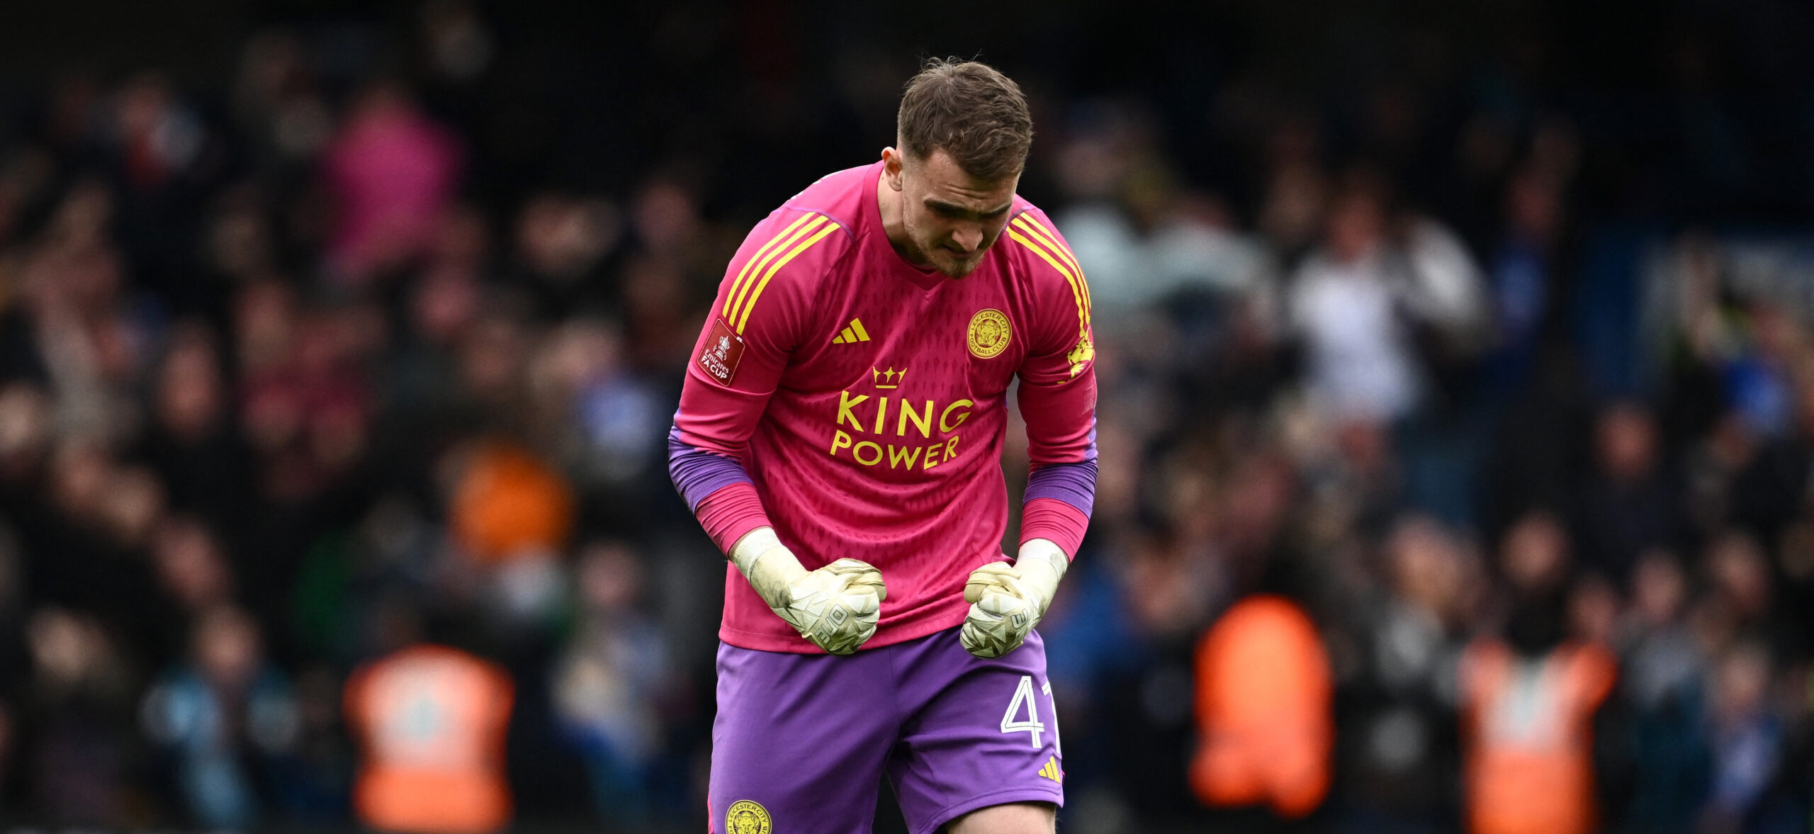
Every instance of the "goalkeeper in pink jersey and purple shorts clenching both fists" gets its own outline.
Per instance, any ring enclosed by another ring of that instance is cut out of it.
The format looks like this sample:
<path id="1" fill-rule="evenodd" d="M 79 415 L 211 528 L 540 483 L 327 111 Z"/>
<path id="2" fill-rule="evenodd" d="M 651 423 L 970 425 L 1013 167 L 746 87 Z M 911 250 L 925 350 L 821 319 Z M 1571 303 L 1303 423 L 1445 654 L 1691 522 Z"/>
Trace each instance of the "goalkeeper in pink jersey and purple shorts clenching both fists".
<path id="1" fill-rule="evenodd" d="M 669 471 L 729 557 L 720 834 L 1054 830 L 1063 751 L 1034 626 L 1096 491 L 1090 292 L 1014 190 L 1027 102 L 931 62 L 896 147 L 756 225 L 688 366 Z M 1032 475 L 1001 553 L 1016 390 Z"/>

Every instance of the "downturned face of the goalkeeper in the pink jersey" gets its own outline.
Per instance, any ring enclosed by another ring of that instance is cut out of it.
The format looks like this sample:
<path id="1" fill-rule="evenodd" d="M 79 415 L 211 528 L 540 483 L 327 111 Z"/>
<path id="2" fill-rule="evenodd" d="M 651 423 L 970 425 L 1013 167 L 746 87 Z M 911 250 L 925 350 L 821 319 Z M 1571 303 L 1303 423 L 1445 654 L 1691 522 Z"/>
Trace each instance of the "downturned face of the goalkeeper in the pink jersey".
<path id="1" fill-rule="evenodd" d="M 902 196 L 909 257 L 951 277 L 969 276 L 983 263 L 1009 223 L 1019 185 L 1019 174 L 978 179 L 943 149 L 925 160 L 892 150 L 885 176 Z"/>

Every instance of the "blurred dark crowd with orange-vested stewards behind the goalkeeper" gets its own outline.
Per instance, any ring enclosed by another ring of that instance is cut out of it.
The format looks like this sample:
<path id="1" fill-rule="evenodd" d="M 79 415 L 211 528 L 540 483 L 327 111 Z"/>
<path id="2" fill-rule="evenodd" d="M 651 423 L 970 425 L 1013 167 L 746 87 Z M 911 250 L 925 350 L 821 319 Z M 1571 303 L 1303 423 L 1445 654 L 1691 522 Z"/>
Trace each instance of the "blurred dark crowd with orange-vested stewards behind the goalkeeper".
<path id="1" fill-rule="evenodd" d="M 943 54 L 1103 301 L 1061 830 L 1809 830 L 1787 0 L 0 4 L 0 827 L 702 830 L 688 350 Z"/>

